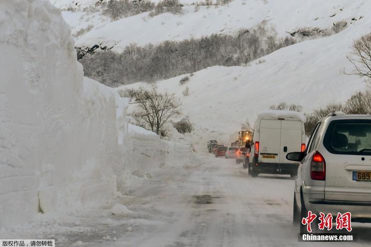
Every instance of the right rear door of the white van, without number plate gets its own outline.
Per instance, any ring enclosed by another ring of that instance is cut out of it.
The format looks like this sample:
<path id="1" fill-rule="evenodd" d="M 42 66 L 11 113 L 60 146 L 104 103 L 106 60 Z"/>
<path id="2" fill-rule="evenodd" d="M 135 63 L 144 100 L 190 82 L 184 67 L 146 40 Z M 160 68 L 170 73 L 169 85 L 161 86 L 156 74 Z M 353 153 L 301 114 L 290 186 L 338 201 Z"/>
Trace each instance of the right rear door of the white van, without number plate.
<path id="1" fill-rule="evenodd" d="M 301 151 L 302 126 L 300 121 L 281 120 L 280 163 L 297 163 L 286 159 L 286 155 Z"/>

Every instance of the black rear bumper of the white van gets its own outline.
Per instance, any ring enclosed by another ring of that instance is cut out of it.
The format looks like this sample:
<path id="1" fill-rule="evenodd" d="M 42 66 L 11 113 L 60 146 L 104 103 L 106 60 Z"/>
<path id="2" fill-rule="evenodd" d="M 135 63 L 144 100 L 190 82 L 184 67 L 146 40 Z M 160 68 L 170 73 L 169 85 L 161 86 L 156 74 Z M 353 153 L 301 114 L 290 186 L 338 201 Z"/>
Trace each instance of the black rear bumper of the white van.
<path id="1" fill-rule="evenodd" d="M 258 165 L 252 164 L 254 170 L 258 173 L 268 174 L 296 174 L 298 172 L 298 163 L 265 163 L 258 162 Z"/>

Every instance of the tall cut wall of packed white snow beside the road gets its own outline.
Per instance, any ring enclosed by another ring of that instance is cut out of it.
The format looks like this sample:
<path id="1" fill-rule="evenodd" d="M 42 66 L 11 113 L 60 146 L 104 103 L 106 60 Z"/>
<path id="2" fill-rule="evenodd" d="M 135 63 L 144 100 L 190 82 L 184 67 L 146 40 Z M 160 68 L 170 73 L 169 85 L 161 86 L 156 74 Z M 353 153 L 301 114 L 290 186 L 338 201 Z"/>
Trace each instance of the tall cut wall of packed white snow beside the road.
<path id="1" fill-rule="evenodd" d="M 139 127 L 129 133 L 127 106 L 84 78 L 59 9 L 1 0 L 0 227 L 92 205 L 119 188 L 124 172 L 190 154 Z"/>

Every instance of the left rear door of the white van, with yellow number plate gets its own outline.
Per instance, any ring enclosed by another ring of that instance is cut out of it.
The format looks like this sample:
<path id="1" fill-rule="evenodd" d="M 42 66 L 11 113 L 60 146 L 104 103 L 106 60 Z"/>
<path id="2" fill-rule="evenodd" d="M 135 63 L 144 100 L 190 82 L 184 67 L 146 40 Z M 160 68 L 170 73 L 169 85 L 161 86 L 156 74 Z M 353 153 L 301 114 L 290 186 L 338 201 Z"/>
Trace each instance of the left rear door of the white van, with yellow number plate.
<path id="1" fill-rule="evenodd" d="M 281 120 L 260 120 L 259 162 L 279 163 Z"/>

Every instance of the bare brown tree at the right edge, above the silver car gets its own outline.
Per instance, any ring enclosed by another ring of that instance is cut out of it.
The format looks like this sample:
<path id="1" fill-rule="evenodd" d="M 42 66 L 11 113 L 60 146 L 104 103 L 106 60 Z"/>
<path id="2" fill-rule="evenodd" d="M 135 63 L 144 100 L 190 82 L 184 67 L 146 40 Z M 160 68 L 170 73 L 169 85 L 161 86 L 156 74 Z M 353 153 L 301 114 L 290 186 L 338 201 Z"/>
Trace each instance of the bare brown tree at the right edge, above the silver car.
<path id="1" fill-rule="evenodd" d="M 371 83 L 371 34 L 362 36 L 355 40 L 352 45 L 352 52 L 347 56 L 354 65 L 354 70 L 347 75 L 359 75 L 366 77 L 366 82 Z"/>

